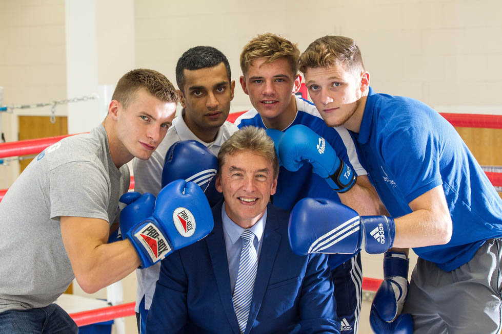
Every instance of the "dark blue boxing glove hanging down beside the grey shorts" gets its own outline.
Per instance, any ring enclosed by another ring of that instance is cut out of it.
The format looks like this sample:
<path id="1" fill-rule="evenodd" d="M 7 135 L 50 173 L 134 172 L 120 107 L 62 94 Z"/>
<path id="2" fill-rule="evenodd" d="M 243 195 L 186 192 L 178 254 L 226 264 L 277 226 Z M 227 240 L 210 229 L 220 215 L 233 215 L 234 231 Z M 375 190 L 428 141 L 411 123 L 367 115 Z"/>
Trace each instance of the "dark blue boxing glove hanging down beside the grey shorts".
<path id="1" fill-rule="evenodd" d="M 370 326 L 376 334 L 413 333 L 413 318 L 401 314 L 408 295 L 408 268 L 405 253 L 387 252 L 384 255 L 384 280 L 371 304 Z"/>

